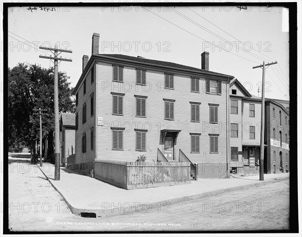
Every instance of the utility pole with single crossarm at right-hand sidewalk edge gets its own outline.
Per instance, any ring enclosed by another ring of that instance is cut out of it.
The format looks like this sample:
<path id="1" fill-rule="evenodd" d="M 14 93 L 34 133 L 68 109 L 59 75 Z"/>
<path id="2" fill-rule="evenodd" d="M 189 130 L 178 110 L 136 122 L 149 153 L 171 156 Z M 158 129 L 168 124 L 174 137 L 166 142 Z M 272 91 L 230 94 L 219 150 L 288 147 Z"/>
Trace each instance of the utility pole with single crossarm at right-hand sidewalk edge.
<path id="1" fill-rule="evenodd" d="M 259 171 L 259 180 L 264 180 L 264 106 L 265 106 L 265 94 L 264 94 L 264 88 L 265 88 L 265 69 L 266 66 L 270 66 L 272 64 L 276 64 L 277 61 L 267 63 L 265 64 L 265 61 L 263 61 L 262 65 L 254 66 L 254 68 L 262 67 L 262 88 L 261 88 L 261 136 L 260 136 L 260 171 Z"/>

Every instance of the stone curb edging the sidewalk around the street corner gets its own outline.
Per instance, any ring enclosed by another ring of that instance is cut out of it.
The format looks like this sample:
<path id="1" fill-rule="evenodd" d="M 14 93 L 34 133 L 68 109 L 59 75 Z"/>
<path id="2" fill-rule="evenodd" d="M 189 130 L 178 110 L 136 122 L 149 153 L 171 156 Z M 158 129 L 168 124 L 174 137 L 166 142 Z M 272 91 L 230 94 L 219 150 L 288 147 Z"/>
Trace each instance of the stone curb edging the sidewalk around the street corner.
<path id="1" fill-rule="evenodd" d="M 51 186 L 61 195 L 61 197 L 64 199 L 68 208 L 70 209 L 70 211 L 73 214 L 81 215 L 81 213 L 84 212 L 84 213 L 93 214 L 93 215 L 95 215 L 95 217 L 114 216 L 114 215 L 128 214 L 131 212 L 137 212 L 137 210 L 144 210 L 144 208 L 145 208 L 144 206 L 146 204 L 148 205 L 148 210 L 152 210 L 153 208 L 157 209 L 160 206 L 165 207 L 168 205 L 168 207 L 169 207 L 169 205 L 171 205 L 171 204 L 175 204 L 175 203 L 186 201 L 186 200 L 193 200 L 193 199 L 202 198 L 202 197 L 215 196 L 215 195 L 225 193 L 225 192 L 236 191 L 236 190 L 253 187 L 253 186 L 262 186 L 262 185 L 276 183 L 276 182 L 280 182 L 280 181 L 289 179 L 289 177 L 284 177 L 284 178 L 279 178 L 279 179 L 275 179 L 275 180 L 268 180 L 268 181 L 253 183 L 253 184 L 246 184 L 246 185 L 231 187 L 231 188 L 218 189 L 218 190 L 204 192 L 204 193 L 200 193 L 200 194 L 187 195 L 187 196 L 178 197 L 178 198 L 166 199 L 166 200 L 152 202 L 152 203 L 145 202 L 145 203 L 141 203 L 139 205 L 131 205 L 129 203 L 129 206 L 127 208 L 124 208 L 123 211 L 121 211 L 121 209 L 122 209 L 121 206 L 118 206 L 118 207 L 115 206 L 115 208 L 108 208 L 108 209 L 83 209 L 83 208 L 81 209 L 81 208 L 73 207 L 72 205 L 70 205 L 68 200 L 62 195 L 62 193 L 55 187 L 55 185 L 52 183 L 52 181 L 48 179 L 48 177 L 45 175 L 45 173 L 41 170 L 40 167 L 39 167 L 39 169 L 43 173 L 43 175 L 46 177 L 48 182 L 51 184 Z M 238 178 L 238 179 L 240 179 L 240 178 Z M 124 204 L 127 204 L 127 202 Z"/>

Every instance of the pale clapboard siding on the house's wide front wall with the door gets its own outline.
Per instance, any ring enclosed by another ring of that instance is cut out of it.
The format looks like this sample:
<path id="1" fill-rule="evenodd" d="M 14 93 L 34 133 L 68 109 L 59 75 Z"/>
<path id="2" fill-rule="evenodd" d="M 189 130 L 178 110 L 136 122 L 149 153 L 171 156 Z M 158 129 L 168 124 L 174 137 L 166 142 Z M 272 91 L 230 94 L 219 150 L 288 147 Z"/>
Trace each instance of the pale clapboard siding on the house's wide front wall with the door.
<path id="1" fill-rule="evenodd" d="M 134 67 L 124 67 L 124 83 L 112 82 L 111 64 L 99 62 L 96 68 L 97 116 L 103 118 L 104 121 L 104 126 L 97 127 L 98 159 L 136 160 L 139 154 L 146 154 L 148 160 L 156 160 L 157 148 L 162 150 L 161 130 L 177 129 L 182 131 L 177 138 L 176 159 L 178 159 L 179 148 L 181 148 L 195 163 L 226 162 L 226 101 L 228 98 L 226 82 L 222 82 L 222 95 L 210 95 L 206 94 L 202 88 L 206 78 L 201 78 L 200 93 L 193 93 L 191 92 L 191 78 L 189 76 L 175 74 L 174 90 L 165 90 L 163 72 L 147 70 L 147 86 L 138 86 L 135 85 L 136 71 Z M 125 93 L 123 116 L 112 115 L 111 92 Z M 134 95 L 147 96 L 146 118 L 135 117 Z M 163 99 L 176 100 L 173 121 L 164 119 Z M 191 122 L 190 101 L 201 103 L 200 123 Z M 209 103 L 219 104 L 218 124 L 209 123 Z M 112 150 L 112 130 L 110 127 L 125 127 L 124 150 Z M 146 151 L 135 151 L 134 128 L 148 130 L 146 133 Z M 190 153 L 190 132 L 201 133 L 200 153 Z M 209 133 L 219 134 L 218 153 L 209 153 Z"/>

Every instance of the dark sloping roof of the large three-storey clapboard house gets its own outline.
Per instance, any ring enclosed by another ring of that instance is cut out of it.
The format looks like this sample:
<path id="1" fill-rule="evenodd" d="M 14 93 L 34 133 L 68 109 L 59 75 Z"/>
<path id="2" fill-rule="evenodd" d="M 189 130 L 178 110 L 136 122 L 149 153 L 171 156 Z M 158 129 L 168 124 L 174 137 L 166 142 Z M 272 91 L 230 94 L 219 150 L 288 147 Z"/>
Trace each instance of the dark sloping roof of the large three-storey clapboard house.
<path id="1" fill-rule="evenodd" d="M 208 71 L 196 67 L 191 67 L 191 66 L 186 66 L 174 62 L 167 62 L 167 61 L 160 61 L 160 60 L 153 60 L 153 59 L 147 59 L 147 58 L 142 58 L 142 57 L 133 57 L 133 56 L 128 56 L 128 55 L 123 55 L 123 54 L 98 54 L 102 56 L 107 56 L 107 57 L 113 57 L 113 58 L 119 58 L 119 59 L 125 59 L 125 60 L 131 60 L 131 61 L 136 61 L 136 62 L 143 62 L 143 63 L 150 63 L 150 64 L 156 64 L 160 66 L 168 66 L 168 67 L 174 67 L 178 69 L 184 69 L 184 70 L 191 70 L 191 71 L 197 71 L 197 72 L 209 72 L 209 73 L 215 73 L 217 75 L 224 75 L 228 77 L 234 77 L 232 75 L 227 75 L 223 73 L 218 73 L 214 71 Z"/>

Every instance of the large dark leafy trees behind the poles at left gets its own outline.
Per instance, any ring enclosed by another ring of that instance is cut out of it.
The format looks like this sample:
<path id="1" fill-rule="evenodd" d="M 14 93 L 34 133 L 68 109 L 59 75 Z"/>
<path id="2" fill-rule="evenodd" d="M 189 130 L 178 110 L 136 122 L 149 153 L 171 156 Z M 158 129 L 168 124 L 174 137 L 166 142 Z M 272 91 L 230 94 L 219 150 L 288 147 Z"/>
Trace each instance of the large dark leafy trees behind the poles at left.
<path id="1" fill-rule="evenodd" d="M 65 72 L 58 72 L 59 111 L 74 113 L 72 88 Z M 43 138 L 54 130 L 53 67 L 19 63 L 8 74 L 9 146 L 28 146 L 33 159 L 40 121 L 34 109 L 47 109 L 42 116 Z M 31 160 L 32 160 L 31 159 Z"/>

